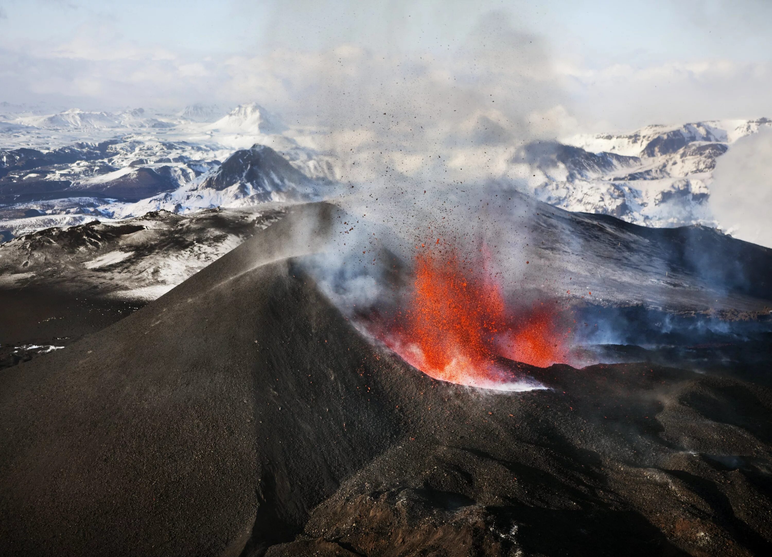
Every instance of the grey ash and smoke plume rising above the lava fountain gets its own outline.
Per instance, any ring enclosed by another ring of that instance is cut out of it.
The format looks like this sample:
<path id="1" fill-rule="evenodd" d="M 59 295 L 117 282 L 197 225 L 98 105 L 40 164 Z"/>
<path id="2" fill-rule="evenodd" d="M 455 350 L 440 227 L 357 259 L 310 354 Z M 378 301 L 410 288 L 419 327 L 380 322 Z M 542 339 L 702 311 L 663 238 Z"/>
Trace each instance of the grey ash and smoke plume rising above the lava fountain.
<path id="1" fill-rule="evenodd" d="M 314 123 L 307 144 L 334 154 L 347 184 L 330 201 L 348 224 L 312 265 L 330 298 L 349 315 L 388 306 L 409 286 L 391 269 L 437 240 L 461 257 L 489 249 L 491 272 L 513 292 L 533 207 L 512 201 L 520 178 L 510 160 L 523 143 L 553 138 L 563 114 L 543 42 L 491 12 L 447 55 L 343 46 L 308 56 L 287 88 L 302 100 L 283 110 Z"/>

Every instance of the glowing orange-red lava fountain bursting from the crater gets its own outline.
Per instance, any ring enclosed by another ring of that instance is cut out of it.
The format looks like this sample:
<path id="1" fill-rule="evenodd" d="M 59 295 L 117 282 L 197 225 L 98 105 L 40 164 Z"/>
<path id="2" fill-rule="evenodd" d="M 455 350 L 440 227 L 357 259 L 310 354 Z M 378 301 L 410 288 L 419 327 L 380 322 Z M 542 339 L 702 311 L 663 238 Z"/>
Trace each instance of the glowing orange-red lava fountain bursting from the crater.
<path id="1" fill-rule="evenodd" d="M 462 258 L 439 241 L 422 245 L 415 283 L 384 342 L 438 380 L 498 390 L 530 390 L 506 360 L 550 366 L 561 360 L 564 336 L 551 306 L 514 315 L 489 258 Z M 545 309 L 546 308 L 546 309 Z"/>

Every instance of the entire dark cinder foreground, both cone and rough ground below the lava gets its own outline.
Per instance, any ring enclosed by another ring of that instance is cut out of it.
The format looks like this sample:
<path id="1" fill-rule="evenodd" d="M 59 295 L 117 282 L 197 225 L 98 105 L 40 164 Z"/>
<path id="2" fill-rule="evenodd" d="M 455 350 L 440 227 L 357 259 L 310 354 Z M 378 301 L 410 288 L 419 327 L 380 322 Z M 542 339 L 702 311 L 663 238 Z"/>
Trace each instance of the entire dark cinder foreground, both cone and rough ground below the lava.
<path id="1" fill-rule="evenodd" d="M 763 555 L 772 394 L 645 363 L 430 379 L 303 272 L 298 206 L 0 375 L 3 555 Z"/>

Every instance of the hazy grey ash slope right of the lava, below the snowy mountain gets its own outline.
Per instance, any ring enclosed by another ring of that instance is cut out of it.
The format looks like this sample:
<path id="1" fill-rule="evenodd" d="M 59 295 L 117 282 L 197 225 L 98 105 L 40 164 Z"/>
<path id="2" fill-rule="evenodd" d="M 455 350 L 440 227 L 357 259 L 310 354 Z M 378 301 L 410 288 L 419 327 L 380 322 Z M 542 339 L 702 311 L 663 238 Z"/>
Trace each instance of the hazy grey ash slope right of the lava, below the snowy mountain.
<path id="1" fill-rule="evenodd" d="M 760 315 L 772 308 L 772 249 L 713 228 L 647 228 L 547 204 L 537 204 L 523 226 L 539 239 L 527 250 L 533 266 L 526 283 L 537 288 L 545 277 L 560 278 L 558 297 L 674 312 Z"/>

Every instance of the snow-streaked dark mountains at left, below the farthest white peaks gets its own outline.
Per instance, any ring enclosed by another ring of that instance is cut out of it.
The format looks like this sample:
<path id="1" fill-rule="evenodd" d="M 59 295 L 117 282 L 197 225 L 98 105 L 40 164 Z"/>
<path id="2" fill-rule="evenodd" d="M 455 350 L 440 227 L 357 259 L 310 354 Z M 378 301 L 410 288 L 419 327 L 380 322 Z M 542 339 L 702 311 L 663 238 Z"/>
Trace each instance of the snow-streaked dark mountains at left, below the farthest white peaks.
<path id="1" fill-rule="evenodd" d="M 3 241 L 51 226 L 147 211 L 187 213 L 266 201 L 320 197 L 330 181 L 312 178 L 263 145 L 217 152 L 188 143 L 105 142 L 43 152 L 2 152 L 0 235 Z"/>

